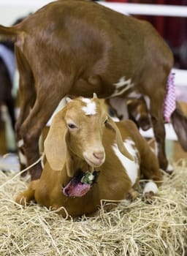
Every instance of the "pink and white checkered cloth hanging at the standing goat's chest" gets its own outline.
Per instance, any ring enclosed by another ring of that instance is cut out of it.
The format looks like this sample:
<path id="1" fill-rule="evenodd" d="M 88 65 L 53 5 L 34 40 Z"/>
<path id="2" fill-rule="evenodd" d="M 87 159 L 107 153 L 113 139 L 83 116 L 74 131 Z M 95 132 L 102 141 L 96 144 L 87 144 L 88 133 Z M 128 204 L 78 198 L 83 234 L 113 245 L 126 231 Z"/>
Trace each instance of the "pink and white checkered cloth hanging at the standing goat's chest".
<path id="1" fill-rule="evenodd" d="M 175 95 L 175 74 L 170 73 L 167 80 L 166 94 L 164 99 L 164 121 L 169 123 L 170 117 L 176 108 L 176 95 Z"/>

